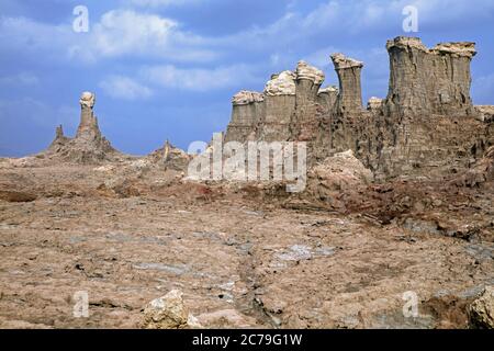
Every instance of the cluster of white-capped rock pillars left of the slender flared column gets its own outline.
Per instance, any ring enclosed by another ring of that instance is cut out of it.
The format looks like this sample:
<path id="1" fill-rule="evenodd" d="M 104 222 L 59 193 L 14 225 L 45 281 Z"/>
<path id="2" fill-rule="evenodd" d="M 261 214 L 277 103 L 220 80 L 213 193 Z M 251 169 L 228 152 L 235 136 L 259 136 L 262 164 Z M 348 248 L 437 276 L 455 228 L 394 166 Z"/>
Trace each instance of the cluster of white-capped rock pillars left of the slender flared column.
<path id="1" fill-rule="evenodd" d="M 327 121 L 338 95 L 334 87 L 321 89 L 324 79 L 322 70 L 300 61 L 294 71 L 272 75 L 263 94 L 240 91 L 232 101 L 233 113 L 225 140 L 317 139 L 324 118 L 329 128 Z"/>

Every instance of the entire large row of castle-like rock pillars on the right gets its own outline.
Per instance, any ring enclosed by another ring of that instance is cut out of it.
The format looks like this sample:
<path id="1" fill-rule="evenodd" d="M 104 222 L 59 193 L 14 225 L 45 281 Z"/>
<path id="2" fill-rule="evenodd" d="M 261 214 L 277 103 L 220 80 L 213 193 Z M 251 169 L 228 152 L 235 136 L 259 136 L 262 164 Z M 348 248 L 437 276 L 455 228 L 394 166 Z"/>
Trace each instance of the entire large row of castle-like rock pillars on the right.
<path id="1" fill-rule="evenodd" d="M 226 139 L 306 141 L 310 166 L 351 149 L 378 180 L 469 169 L 494 144 L 494 107 L 474 106 L 470 98 L 474 43 L 428 49 L 418 38 L 396 37 L 386 47 L 389 93 L 371 98 L 367 110 L 363 64 L 334 54 L 339 89 L 321 88 L 324 73 L 301 61 L 271 77 L 263 101 L 258 93 L 234 98 Z"/>

